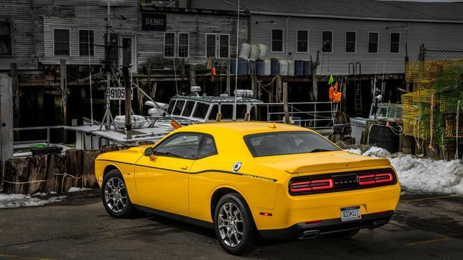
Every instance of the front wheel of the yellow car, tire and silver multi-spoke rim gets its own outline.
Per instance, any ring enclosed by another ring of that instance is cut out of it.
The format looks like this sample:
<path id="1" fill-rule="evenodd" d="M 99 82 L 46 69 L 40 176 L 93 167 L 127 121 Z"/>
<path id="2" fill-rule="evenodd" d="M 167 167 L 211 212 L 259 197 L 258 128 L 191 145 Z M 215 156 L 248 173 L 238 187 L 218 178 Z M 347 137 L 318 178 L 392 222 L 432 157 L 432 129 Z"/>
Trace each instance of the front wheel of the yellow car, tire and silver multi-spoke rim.
<path id="1" fill-rule="evenodd" d="M 128 219 L 136 215 L 127 193 L 124 177 L 118 170 L 109 171 L 101 185 L 101 200 L 104 209 L 116 219 Z"/>

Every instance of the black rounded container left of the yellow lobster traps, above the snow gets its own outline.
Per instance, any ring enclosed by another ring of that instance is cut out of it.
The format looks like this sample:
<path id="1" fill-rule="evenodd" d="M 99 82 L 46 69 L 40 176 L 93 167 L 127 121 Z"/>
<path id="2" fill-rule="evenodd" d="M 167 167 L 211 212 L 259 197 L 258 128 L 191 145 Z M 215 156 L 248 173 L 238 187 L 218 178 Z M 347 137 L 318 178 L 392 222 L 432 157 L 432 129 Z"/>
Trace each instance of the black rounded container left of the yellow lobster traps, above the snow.
<path id="1" fill-rule="evenodd" d="M 399 151 L 399 136 L 389 126 L 373 124 L 369 129 L 368 144 L 386 149 L 390 153 Z"/>

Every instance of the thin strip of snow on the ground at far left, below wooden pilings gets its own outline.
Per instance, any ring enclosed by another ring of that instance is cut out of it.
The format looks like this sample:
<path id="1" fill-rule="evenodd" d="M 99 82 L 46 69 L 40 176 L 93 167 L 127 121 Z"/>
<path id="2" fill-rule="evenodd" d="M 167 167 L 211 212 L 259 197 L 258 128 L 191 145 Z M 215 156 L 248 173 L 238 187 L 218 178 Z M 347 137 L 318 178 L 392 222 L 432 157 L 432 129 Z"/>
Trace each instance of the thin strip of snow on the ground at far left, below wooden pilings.
<path id="1" fill-rule="evenodd" d="M 0 209 L 19 208 L 21 206 L 41 206 L 66 199 L 66 196 L 54 196 L 48 199 L 39 199 L 24 194 L 0 194 Z"/>

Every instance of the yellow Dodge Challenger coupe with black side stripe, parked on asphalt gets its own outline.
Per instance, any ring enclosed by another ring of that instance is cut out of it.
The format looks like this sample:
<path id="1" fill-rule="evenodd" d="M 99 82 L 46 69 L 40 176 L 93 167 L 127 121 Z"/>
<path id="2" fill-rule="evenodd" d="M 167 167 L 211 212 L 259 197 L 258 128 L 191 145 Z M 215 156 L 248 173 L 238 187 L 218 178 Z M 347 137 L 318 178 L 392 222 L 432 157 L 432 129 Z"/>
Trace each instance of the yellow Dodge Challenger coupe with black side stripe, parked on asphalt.
<path id="1" fill-rule="evenodd" d="M 389 160 L 287 124 L 184 126 L 156 145 L 101 154 L 95 169 L 111 216 L 141 210 L 208 226 L 230 254 L 257 236 L 354 236 L 386 224 L 400 196 Z"/>

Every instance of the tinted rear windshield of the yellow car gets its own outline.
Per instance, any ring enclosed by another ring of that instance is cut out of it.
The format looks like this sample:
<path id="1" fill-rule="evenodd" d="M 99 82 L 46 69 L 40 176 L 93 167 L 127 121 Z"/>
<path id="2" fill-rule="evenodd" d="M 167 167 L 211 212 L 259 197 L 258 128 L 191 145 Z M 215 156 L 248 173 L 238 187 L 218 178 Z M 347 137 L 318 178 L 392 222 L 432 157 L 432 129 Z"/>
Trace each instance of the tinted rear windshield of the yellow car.
<path id="1" fill-rule="evenodd" d="M 339 151 L 330 141 L 309 131 L 250 134 L 244 141 L 254 157 Z"/>

